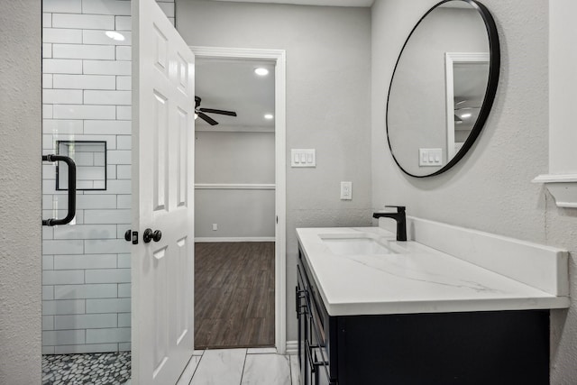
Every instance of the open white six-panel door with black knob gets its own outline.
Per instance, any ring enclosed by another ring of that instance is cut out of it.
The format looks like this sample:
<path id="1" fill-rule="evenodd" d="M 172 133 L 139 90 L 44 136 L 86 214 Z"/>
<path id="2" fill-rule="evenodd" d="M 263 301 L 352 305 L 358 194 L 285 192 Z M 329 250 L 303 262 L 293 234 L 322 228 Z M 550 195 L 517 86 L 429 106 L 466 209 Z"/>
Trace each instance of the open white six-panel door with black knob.
<path id="1" fill-rule="evenodd" d="M 175 384 L 194 349 L 194 54 L 133 0 L 133 383 Z M 146 243 L 146 229 L 160 239 Z"/>

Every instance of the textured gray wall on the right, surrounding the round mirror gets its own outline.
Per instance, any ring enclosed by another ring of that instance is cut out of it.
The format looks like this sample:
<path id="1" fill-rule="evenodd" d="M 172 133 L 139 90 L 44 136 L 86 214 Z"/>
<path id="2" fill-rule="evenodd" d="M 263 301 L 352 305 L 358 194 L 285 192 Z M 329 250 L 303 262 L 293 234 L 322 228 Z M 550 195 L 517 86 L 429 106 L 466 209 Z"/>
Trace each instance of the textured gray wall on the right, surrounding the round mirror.
<path id="1" fill-rule="evenodd" d="M 405 37 L 436 0 L 376 0 L 372 9 L 372 201 L 408 206 L 408 214 L 567 248 L 572 298 L 577 210 L 561 209 L 540 185 L 548 162 L 548 2 L 483 0 L 501 42 L 499 91 L 472 151 L 452 170 L 412 179 L 397 169 L 385 136 L 386 90 Z M 554 311 L 551 382 L 577 378 L 577 314 Z"/>

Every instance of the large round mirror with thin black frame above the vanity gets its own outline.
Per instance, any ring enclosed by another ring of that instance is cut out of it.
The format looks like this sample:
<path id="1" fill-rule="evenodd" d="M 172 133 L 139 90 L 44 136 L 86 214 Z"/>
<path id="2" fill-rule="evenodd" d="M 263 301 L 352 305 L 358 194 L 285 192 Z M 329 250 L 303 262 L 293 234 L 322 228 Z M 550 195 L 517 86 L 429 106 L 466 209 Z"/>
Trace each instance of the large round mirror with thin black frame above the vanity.
<path id="1" fill-rule="evenodd" d="M 475 0 L 444 0 L 408 35 L 387 99 L 398 167 L 423 178 L 449 170 L 481 133 L 499 82 L 499 36 Z"/>

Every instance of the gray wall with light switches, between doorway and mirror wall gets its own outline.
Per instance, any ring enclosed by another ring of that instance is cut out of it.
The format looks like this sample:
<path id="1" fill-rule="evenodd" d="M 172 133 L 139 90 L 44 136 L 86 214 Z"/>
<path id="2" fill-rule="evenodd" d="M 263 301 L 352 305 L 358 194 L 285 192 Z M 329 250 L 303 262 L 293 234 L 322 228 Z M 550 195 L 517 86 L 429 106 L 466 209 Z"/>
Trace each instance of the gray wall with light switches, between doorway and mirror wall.
<path id="1" fill-rule="evenodd" d="M 287 170 L 287 339 L 297 339 L 295 228 L 371 225 L 369 8 L 177 1 L 190 45 L 287 50 L 289 149 L 315 148 L 315 169 Z M 353 181 L 353 200 L 340 182 Z"/>

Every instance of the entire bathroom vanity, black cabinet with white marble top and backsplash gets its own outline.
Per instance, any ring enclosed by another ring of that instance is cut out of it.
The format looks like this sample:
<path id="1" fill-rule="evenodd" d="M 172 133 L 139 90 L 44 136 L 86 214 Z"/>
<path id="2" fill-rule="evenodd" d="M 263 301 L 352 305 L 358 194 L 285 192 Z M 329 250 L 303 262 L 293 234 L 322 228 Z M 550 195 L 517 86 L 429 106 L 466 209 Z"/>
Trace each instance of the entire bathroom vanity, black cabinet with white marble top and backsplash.
<path id="1" fill-rule="evenodd" d="M 508 242 L 410 221 L 412 239 L 415 233 L 426 239 L 441 231 L 462 243 L 455 250 L 469 248 L 473 260 L 481 261 L 476 253 L 485 248 Z M 532 267 L 523 282 L 504 275 L 508 267 L 491 270 L 499 250 L 482 266 L 440 252 L 438 245 L 435 250 L 397 242 L 395 234 L 378 227 L 297 233 L 304 385 L 549 383 L 549 309 L 569 306 L 566 252 L 510 240 L 513 246 L 500 250 L 519 255 L 501 264 L 527 258 Z M 551 269 L 542 269 L 547 263 Z M 541 277 L 531 277 L 535 267 Z M 557 273 L 544 282 L 548 271 Z"/>

